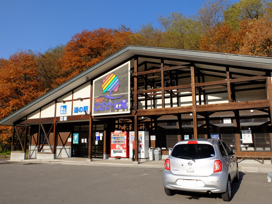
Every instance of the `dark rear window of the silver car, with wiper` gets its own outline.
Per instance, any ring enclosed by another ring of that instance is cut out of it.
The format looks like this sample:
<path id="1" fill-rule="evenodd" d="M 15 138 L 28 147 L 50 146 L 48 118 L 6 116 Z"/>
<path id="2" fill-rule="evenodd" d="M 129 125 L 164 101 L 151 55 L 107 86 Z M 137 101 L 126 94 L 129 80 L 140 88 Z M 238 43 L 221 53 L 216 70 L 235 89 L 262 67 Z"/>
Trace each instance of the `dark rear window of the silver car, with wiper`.
<path id="1" fill-rule="evenodd" d="M 190 157 L 191 159 L 204 159 L 214 155 L 214 148 L 210 144 L 178 144 L 171 152 L 173 157 Z"/>

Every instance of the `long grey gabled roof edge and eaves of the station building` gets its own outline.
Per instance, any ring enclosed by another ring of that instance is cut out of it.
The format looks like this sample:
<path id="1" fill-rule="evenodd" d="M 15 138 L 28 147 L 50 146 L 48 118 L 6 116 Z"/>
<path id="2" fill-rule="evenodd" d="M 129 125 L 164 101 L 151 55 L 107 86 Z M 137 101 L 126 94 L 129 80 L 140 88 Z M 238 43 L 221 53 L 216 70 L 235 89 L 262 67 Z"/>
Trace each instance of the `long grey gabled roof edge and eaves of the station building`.
<path id="1" fill-rule="evenodd" d="M 73 78 L 67 80 L 65 83 L 57 86 L 43 96 L 35 99 L 28 105 L 20 108 L 16 112 L 7 116 L 0 121 L 0 125 L 13 125 L 13 123 L 49 102 L 59 98 L 63 93 L 69 92 L 72 89 L 86 82 L 86 77 L 92 79 L 93 77 L 105 72 L 111 67 L 133 57 L 134 55 L 173 58 L 180 60 L 189 60 L 203 63 L 225 64 L 230 66 L 243 66 L 257 69 L 272 70 L 272 58 L 258 57 L 248 55 L 237 55 L 228 53 L 214 53 L 195 50 L 180 50 L 159 47 L 144 47 L 128 45 L 123 49 L 117 51 L 111 56 L 105 58 L 99 63 L 84 70 Z"/>

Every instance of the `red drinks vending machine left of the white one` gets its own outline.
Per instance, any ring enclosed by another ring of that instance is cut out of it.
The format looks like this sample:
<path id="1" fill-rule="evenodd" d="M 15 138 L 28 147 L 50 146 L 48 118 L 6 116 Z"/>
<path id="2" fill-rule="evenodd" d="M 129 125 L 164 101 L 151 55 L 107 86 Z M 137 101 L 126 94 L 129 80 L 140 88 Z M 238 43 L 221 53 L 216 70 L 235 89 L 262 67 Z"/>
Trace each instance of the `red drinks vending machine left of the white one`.
<path id="1" fill-rule="evenodd" d="M 111 157 L 129 157 L 129 135 L 128 132 L 111 132 Z"/>

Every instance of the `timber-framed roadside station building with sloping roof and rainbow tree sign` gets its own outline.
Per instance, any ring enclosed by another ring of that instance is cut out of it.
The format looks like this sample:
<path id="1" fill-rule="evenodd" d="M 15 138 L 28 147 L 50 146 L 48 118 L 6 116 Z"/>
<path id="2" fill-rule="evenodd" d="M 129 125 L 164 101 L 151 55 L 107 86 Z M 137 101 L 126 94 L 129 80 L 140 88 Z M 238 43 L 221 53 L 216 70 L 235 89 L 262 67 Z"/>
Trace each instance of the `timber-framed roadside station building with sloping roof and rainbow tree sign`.
<path id="1" fill-rule="evenodd" d="M 11 160 L 28 142 L 28 158 L 107 159 L 111 132 L 135 131 L 137 152 L 147 131 L 163 157 L 178 141 L 220 138 L 241 159 L 272 163 L 271 71 L 268 57 L 127 46 L 0 125 L 14 127 Z"/>

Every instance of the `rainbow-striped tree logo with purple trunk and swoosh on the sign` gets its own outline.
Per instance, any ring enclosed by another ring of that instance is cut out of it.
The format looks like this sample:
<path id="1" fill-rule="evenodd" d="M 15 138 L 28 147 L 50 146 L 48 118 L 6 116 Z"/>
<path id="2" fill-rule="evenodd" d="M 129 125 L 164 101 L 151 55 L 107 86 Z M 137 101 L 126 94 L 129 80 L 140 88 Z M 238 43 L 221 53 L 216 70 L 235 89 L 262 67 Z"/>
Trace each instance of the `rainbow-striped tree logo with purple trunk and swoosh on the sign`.
<path id="1" fill-rule="evenodd" d="M 100 97 L 105 97 L 107 99 L 119 99 L 122 96 L 118 97 L 112 97 L 111 92 L 118 92 L 118 87 L 120 86 L 119 79 L 115 74 L 109 74 L 105 79 L 103 79 L 102 83 L 102 89 L 103 93 L 109 92 L 109 96 L 100 96 Z"/>

